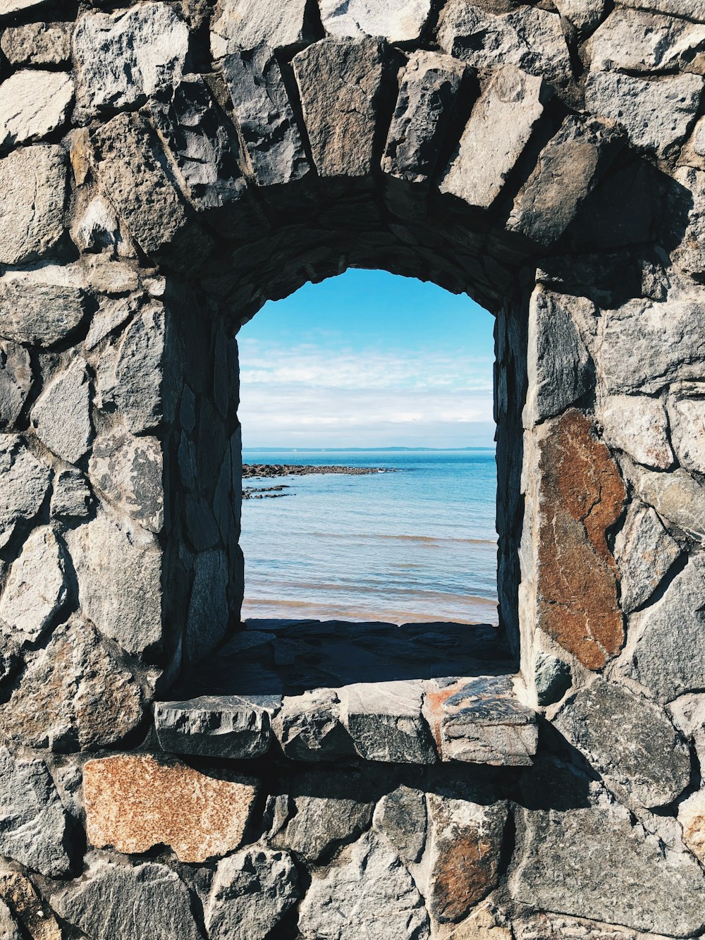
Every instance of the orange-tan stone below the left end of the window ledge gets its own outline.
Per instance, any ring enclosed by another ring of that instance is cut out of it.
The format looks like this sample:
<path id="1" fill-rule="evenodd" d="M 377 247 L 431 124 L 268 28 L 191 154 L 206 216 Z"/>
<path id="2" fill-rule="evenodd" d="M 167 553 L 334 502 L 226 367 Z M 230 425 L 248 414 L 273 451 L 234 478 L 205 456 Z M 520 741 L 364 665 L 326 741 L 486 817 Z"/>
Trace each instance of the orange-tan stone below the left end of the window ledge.
<path id="1" fill-rule="evenodd" d="M 127 854 L 168 845 L 182 862 L 204 862 L 232 852 L 256 795 L 248 778 L 207 776 L 151 755 L 89 760 L 84 768 L 88 840 Z"/>

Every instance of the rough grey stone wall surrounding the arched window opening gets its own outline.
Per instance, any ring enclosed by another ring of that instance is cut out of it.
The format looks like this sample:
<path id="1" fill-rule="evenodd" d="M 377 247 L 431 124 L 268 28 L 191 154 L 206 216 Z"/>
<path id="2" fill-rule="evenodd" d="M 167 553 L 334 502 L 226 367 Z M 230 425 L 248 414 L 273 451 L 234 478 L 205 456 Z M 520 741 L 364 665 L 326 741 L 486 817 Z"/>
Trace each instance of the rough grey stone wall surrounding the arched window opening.
<path id="1" fill-rule="evenodd" d="M 702 0 L 0 0 L 0 50 L 0 935 L 703 935 Z M 500 634 L 273 693 L 234 336 L 348 267 L 496 314 Z"/>

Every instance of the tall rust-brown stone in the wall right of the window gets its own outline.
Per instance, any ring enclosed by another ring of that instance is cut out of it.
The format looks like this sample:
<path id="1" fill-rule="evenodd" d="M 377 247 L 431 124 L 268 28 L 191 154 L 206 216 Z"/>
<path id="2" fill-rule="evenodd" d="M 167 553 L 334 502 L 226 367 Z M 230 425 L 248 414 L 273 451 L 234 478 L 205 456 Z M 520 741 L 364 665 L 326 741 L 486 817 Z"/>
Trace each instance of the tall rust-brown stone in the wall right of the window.
<path id="1" fill-rule="evenodd" d="M 624 639 L 606 534 L 626 491 L 582 412 L 558 418 L 540 448 L 540 627 L 583 666 L 600 669 Z"/>

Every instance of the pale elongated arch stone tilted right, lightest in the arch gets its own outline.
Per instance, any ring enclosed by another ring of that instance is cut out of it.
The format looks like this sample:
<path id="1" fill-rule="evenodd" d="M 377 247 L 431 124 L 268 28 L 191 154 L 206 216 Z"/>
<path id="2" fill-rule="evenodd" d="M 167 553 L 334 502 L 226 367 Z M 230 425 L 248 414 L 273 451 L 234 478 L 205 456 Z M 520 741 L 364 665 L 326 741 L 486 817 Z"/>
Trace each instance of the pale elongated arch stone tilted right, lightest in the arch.
<path id="1" fill-rule="evenodd" d="M 550 97 L 540 78 L 510 65 L 498 69 L 475 102 L 458 152 L 440 182 L 441 192 L 489 209 Z"/>

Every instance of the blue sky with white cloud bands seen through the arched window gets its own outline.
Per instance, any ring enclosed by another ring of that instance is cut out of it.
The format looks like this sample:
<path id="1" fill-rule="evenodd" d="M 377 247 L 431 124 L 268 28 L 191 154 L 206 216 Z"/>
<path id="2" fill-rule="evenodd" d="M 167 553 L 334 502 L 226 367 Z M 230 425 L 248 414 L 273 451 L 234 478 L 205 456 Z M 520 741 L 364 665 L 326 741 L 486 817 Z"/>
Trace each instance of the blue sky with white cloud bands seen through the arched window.
<path id="1" fill-rule="evenodd" d="M 493 445 L 493 317 L 464 295 L 351 270 L 238 340 L 243 446 Z"/>

